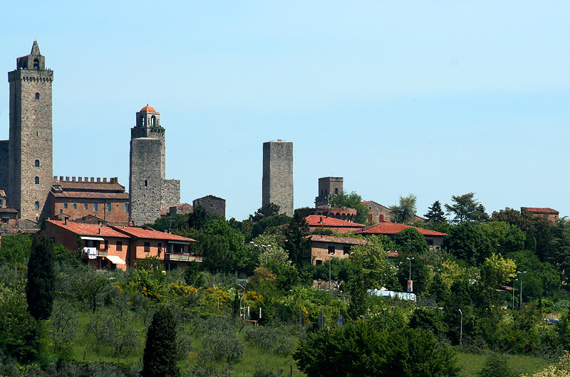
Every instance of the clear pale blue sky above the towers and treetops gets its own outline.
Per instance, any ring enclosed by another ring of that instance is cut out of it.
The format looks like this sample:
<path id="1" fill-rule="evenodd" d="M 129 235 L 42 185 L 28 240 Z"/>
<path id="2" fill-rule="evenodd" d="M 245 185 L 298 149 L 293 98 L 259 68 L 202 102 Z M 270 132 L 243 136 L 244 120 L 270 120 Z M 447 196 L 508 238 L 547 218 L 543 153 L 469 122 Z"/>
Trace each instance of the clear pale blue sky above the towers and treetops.
<path id="1" fill-rule="evenodd" d="M 53 175 L 117 176 L 150 104 L 181 201 L 261 207 L 262 144 L 294 145 L 294 206 L 318 178 L 384 206 L 475 193 L 487 212 L 570 216 L 569 1 L 19 1 L 7 72 L 38 41 L 53 81 Z"/>

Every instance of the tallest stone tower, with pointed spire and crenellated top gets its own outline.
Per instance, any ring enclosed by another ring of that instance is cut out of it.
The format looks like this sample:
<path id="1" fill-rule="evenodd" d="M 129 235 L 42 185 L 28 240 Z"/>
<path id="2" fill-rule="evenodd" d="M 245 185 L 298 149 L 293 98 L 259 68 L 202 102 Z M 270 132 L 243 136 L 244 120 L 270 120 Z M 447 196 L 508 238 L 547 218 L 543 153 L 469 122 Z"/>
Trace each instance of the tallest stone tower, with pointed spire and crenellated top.
<path id="1" fill-rule="evenodd" d="M 33 41 L 30 55 L 16 59 L 10 83 L 8 147 L 8 205 L 21 218 L 39 221 L 48 216 L 52 184 L 53 142 L 51 83 L 53 70 Z"/>

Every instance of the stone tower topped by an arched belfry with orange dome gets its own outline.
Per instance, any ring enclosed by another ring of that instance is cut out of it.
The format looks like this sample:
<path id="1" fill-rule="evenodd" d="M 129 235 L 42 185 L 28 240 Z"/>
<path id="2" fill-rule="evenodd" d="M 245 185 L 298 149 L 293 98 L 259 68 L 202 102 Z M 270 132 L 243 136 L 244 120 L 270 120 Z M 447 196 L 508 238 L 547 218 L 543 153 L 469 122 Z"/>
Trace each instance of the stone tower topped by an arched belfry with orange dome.
<path id="1" fill-rule="evenodd" d="M 130 129 L 129 220 L 154 223 L 161 208 L 180 203 L 180 181 L 166 179 L 165 129 L 160 113 L 146 105 Z"/>

